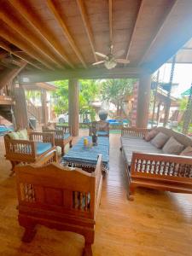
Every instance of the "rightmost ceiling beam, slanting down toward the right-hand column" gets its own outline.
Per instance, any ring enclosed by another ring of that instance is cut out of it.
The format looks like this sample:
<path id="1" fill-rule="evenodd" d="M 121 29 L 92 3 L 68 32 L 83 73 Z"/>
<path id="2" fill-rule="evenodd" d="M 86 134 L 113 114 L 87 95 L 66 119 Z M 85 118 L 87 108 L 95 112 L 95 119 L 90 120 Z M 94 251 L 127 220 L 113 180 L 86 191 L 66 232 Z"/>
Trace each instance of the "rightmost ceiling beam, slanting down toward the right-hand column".
<path id="1" fill-rule="evenodd" d="M 162 19 L 162 21 L 160 22 L 160 26 L 157 28 L 156 33 L 154 34 L 154 37 L 151 41 L 151 43 L 148 45 L 148 48 L 145 50 L 145 53 L 141 59 L 141 61 L 139 61 L 139 65 L 143 64 L 146 56 L 148 55 L 150 49 L 153 47 L 154 43 L 156 42 L 157 38 L 160 35 L 160 32 L 163 30 L 163 28 L 166 26 L 166 22 L 167 20 L 169 20 L 170 16 L 172 15 L 173 10 L 175 9 L 176 5 L 177 5 L 178 0 L 174 0 L 174 2 L 172 3 L 172 6 L 166 10 L 166 13 Z"/>

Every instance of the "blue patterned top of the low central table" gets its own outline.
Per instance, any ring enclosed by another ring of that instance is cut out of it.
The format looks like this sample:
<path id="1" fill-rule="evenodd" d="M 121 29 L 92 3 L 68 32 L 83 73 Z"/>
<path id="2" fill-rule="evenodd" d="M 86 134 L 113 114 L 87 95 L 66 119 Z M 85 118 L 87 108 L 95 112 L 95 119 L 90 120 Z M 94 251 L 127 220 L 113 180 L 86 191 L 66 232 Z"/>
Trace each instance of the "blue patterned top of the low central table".
<path id="1" fill-rule="evenodd" d="M 108 137 L 98 137 L 97 146 L 84 146 L 84 138 L 89 143 L 92 142 L 91 137 L 81 137 L 73 148 L 62 157 L 61 163 L 67 163 L 74 166 L 96 166 L 98 154 L 102 154 L 102 164 L 108 169 L 109 161 L 109 140 Z"/>

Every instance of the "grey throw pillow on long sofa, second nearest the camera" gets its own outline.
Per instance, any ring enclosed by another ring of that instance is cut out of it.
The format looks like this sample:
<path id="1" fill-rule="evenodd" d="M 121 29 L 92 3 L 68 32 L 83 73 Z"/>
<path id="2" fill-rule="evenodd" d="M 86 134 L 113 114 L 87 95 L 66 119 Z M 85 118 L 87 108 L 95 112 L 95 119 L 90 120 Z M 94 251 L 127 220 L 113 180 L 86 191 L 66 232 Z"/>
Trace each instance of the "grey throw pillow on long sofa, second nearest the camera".
<path id="1" fill-rule="evenodd" d="M 170 137 L 162 150 L 165 154 L 180 154 L 183 148 L 183 144 L 178 143 L 174 137 Z"/>

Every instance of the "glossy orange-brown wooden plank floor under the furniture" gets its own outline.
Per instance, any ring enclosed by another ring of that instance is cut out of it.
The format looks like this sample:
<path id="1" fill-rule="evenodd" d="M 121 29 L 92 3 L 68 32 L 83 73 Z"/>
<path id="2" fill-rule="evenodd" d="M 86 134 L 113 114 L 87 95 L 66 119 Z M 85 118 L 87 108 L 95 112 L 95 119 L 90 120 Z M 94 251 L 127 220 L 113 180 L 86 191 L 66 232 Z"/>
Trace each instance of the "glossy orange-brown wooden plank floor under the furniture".
<path id="1" fill-rule="evenodd" d="M 15 177 L 9 177 L 0 138 L 0 255 L 78 256 L 83 237 L 38 227 L 30 244 L 20 241 Z M 126 200 L 124 163 L 119 135 L 110 135 L 110 172 L 104 179 L 96 218 L 95 256 L 192 255 L 192 195 L 137 189 L 135 201 Z"/>

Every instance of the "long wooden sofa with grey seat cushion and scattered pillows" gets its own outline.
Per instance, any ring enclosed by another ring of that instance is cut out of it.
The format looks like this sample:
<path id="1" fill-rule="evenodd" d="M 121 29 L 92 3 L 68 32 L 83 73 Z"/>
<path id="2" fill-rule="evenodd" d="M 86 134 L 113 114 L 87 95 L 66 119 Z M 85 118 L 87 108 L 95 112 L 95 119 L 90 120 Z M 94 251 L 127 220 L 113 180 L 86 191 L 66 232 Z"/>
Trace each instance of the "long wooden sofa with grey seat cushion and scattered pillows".
<path id="1" fill-rule="evenodd" d="M 177 131 L 158 127 L 168 137 L 175 137 L 185 147 L 192 146 L 192 139 Z M 123 128 L 121 148 L 128 176 L 128 198 L 133 200 L 137 187 L 162 189 L 172 192 L 192 193 L 192 158 L 163 154 L 161 149 L 143 140 L 149 129 Z"/>

